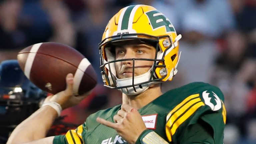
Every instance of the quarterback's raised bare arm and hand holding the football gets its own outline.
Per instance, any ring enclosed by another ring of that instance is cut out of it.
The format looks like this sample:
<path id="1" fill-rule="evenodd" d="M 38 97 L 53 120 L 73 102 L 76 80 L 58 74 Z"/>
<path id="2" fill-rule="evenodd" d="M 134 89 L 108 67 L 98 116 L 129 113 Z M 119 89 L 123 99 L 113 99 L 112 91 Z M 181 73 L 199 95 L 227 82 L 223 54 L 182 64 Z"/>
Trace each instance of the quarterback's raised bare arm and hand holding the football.
<path id="1" fill-rule="evenodd" d="M 56 95 L 49 96 L 45 102 L 55 101 L 61 105 L 63 109 L 78 104 L 88 94 L 83 96 L 73 96 L 73 75 L 68 74 L 66 77 L 67 88 L 65 91 L 59 92 Z M 51 144 L 54 137 L 45 138 L 55 118 L 57 118 L 57 111 L 49 105 L 41 107 L 30 117 L 20 123 L 12 132 L 7 144 L 21 144 L 21 143 L 45 143 Z"/>

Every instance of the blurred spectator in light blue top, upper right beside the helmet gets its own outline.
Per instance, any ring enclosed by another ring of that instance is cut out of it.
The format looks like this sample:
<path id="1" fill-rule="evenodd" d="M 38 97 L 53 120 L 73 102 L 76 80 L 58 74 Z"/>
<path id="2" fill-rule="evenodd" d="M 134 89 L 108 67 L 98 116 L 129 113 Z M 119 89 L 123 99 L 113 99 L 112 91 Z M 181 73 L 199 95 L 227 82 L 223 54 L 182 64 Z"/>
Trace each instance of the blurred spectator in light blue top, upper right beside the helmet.
<path id="1" fill-rule="evenodd" d="M 180 25 L 176 30 L 181 32 L 195 30 L 206 37 L 219 38 L 235 27 L 227 0 L 180 0 L 176 2 L 175 11 Z M 195 19 L 194 23 L 190 23 L 191 19 Z"/>

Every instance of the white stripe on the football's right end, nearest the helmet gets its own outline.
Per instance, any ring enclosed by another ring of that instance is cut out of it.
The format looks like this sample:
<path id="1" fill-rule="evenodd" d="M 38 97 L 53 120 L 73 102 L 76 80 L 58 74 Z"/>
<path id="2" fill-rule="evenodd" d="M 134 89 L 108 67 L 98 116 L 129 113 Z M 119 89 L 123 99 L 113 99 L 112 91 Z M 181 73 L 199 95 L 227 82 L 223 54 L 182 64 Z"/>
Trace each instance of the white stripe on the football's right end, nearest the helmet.
<path id="1" fill-rule="evenodd" d="M 83 78 L 84 72 L 90 64 L 91 63 L 88 61 L 88 59 L 84 58 L 81 60 L 80 64 L 78 65 L 78 68 L 74 75 L 73 94 L 78 95 L 79 86 Z"/>

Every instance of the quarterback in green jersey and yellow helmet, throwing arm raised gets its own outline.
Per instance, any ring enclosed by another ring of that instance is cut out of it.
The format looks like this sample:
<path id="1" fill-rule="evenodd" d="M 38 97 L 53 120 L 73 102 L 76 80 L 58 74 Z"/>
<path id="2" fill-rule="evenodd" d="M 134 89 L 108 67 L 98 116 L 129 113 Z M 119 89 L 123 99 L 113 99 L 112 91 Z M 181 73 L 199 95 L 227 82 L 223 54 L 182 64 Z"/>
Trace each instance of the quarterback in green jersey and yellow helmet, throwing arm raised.
<path id="1" fill-rule="evenodd" d="M 219 88 L 194 82 L 161 92 L 160 83 L 177 73 L 180 39 L 154 7 L 121 9 L 108 22 L 99 51 L 104 85 L 122 91 L 122 104 L 90 115 L 65 135 L 45 138 L 61 110 L 88 95 L 72 95 L 68 74 L 66 90 L 48 97 L 7 143 L 223 144 L 226 110 Z"/>

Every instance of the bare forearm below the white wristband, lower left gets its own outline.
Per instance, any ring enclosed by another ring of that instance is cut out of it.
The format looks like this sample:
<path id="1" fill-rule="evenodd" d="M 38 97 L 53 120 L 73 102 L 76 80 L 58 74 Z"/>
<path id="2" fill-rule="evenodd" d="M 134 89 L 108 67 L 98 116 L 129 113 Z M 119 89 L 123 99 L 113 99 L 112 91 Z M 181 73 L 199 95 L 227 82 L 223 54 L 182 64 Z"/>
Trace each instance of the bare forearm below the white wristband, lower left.
<path id="1" fill-rule="evenodd" d="M 14 129 L 7 144 L 24 143 L 44 138 L 57 116 L 56 110 L 51 106 L 41 107 Z"/>

